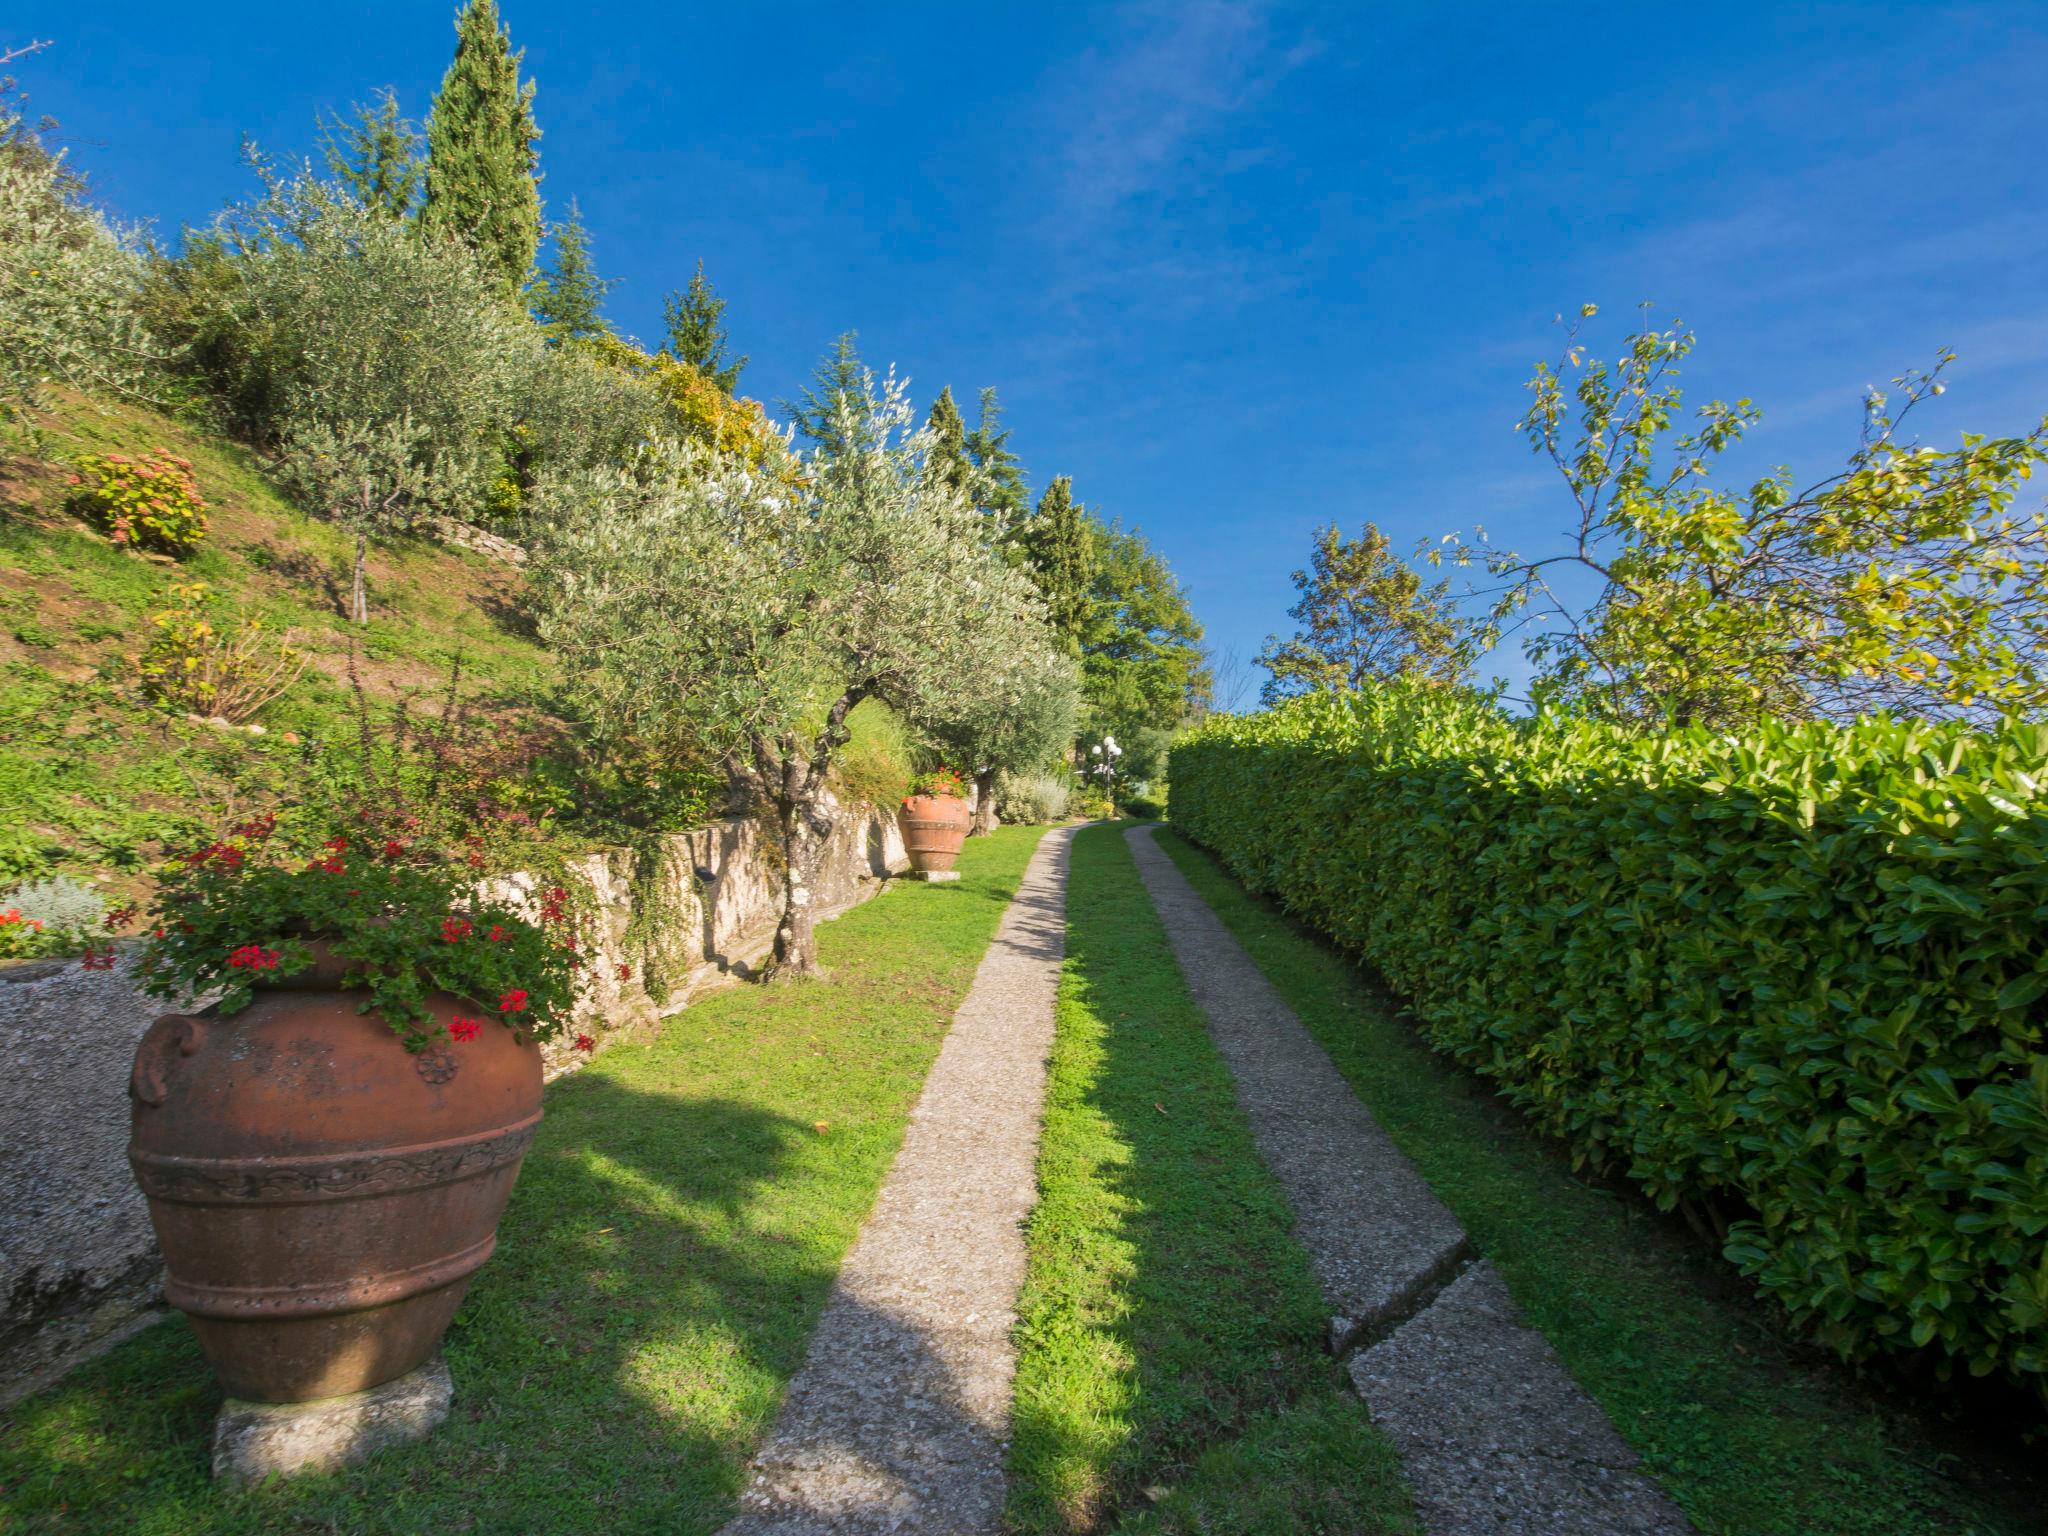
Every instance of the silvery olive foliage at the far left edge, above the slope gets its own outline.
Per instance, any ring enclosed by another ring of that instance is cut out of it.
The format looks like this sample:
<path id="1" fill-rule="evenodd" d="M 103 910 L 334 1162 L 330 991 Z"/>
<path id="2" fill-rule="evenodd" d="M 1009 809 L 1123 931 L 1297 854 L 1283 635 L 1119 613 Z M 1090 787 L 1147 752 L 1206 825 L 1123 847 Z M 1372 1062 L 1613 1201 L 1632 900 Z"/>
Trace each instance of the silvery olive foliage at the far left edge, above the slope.
<path id="1" fill-rule="evenodd" d="M 135 309 L 129 231 L 92 209 L 61 156 L 0 113 L 0 422 L 51 385 L 121 395 L 162 358 Z"/>

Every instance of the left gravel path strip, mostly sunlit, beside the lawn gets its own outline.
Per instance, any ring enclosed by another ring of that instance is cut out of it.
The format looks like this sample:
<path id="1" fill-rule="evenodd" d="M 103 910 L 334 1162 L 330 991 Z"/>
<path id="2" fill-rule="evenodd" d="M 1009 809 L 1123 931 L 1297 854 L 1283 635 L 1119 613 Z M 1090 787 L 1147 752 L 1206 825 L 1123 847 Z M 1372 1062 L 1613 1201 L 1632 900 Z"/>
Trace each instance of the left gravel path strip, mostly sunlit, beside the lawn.
<path id="1" fill-rule="evenodd" d="M 1024 870 L 723 1536 L 999 1530 L 1071 838 Z"/>

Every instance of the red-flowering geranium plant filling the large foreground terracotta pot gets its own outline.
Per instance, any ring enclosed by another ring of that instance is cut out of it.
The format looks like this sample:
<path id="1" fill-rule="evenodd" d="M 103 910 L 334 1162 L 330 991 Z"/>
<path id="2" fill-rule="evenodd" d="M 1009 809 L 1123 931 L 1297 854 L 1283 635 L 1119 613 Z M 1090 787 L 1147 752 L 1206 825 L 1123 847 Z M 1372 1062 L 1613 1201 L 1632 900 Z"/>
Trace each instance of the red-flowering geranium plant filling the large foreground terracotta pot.
<path id="1" fill-rule="evenodd" d="M 158 997 L 219 989 L 233 1014 L 266 981 L 313 963 L 319 942 L 344 963 L 358 1012 L 383 1016 L 408 1051 L 471 1040 L 487 1020 L 532 1038 L 559 1034 L 575 1004 L 575 930 L 567 891 L 543 895 L 539 922 L 485 899 L 465 858 L 352 821 L 315 850 L 287 850 L 276 817 L 172 862 L 143 952 Z M 467 1004 L 446 1030 L 434 991 Z"/>

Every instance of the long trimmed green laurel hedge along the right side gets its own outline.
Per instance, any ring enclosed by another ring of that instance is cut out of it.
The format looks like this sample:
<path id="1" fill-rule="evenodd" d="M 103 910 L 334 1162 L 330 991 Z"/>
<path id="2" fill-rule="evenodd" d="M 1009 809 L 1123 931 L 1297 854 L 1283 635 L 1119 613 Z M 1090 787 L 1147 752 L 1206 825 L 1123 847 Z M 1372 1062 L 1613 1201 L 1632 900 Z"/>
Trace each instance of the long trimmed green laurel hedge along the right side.
<path id="1" fill-rule="evenodd" d="M 1223 717 L 1174 825 L 1845 1356 L 2048 1397 L 2048 727 Z"/>

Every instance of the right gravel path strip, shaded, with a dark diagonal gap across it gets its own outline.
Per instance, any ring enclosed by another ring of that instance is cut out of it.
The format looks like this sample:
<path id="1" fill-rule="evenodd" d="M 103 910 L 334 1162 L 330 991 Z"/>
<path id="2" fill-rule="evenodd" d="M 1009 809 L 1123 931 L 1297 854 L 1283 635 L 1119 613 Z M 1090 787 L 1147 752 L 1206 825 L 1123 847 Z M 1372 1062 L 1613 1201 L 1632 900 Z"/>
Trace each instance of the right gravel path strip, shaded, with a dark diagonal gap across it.
<path id="1" fill-rule="evenodd" d="M 1352 1384 L 1401 1452 L 1423 1530 L 1690 1532 L 1151 827 L 1130 834 L 1130 852 L 1294 1206 L 1331 1350 L 1356 1350 Z"/>

